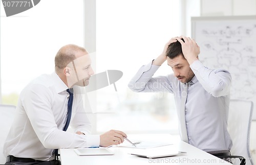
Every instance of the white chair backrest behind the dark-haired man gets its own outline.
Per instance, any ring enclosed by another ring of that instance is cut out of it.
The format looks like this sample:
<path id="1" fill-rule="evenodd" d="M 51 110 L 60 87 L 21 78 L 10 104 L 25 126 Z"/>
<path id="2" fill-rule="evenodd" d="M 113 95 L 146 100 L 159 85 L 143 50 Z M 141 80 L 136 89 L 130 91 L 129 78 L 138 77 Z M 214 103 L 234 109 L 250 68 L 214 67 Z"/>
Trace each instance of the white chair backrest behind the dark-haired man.
<path id="1" fill-rule="evenodd" d="M 243 156 L 246 159 L 246 165 L 253 165 L 249 145 L 252 112 L 252 101 L 230 100 L 227 126 L 233 142 L 230 152 L 231 155 Z M 239 159 L 234 161 L 239 162 Z M 237 164 L 237 162 L 234 163 Z"/>

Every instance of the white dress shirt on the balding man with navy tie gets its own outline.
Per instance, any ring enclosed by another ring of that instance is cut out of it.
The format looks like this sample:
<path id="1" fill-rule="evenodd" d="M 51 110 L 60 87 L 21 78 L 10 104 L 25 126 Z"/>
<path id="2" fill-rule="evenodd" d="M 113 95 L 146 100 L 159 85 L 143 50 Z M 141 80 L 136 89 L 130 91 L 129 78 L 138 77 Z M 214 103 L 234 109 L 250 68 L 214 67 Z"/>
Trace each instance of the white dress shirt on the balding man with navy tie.
<path id="1" fill-rule="evenodd" d="M 4 145 L 4 154 L 37 160 L 54 159 L 54 149 L 98 147 L 99 135 L 90 135 L 91 123 L 83 108 L 79 87 L 74 86 L 70 125 L 65 132 L 69 93 L 56 73 L 42 75 L 20 93 L 14 122 Z"/>

